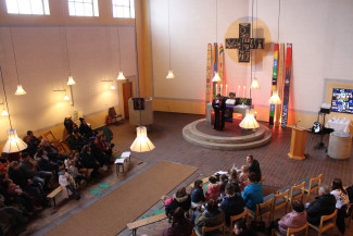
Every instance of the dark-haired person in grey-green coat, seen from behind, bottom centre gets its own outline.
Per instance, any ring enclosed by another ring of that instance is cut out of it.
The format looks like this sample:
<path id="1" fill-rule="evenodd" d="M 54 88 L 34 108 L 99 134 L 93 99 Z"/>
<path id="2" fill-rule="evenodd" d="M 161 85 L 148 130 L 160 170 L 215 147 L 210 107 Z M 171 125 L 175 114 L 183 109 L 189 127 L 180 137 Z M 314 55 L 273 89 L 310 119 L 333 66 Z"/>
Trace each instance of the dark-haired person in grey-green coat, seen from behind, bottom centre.
<path id="1" fill-rule="evenodd" d="M 202 227 L 214 227 L 225 222 L 224 212 L 218 209 L 217 201 L 211 199 L 205 206 L 205 210 L 194 219 L 196 228 L 202 233 Z"/>

